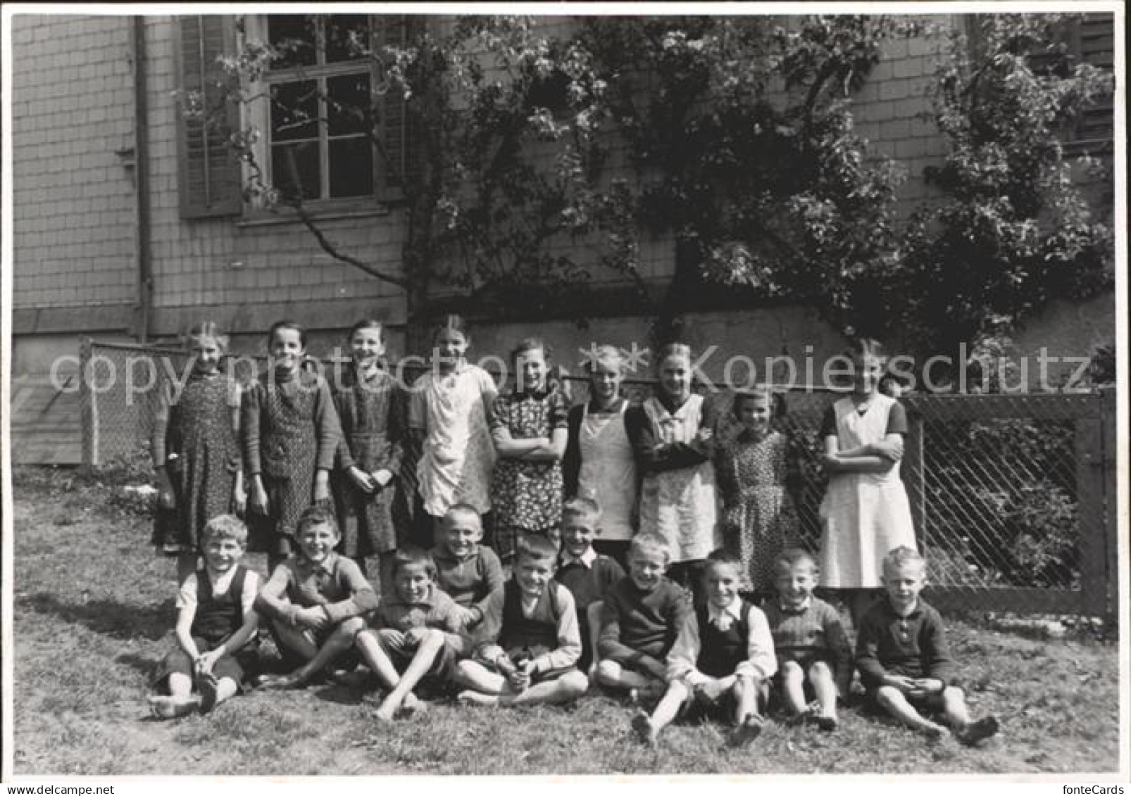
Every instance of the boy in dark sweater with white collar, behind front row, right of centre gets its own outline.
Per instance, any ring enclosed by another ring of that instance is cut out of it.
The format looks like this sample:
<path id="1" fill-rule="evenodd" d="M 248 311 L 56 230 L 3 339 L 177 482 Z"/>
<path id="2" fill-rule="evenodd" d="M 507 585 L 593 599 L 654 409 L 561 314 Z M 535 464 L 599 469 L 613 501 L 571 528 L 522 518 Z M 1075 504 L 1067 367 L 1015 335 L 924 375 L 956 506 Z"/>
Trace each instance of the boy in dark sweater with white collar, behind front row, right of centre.
<path id="1" fill-rule="evenodd" d="M 589 673 L 594 661 L 594 635 L 601 628 L 601 600 L 624 577 L 615 559 L 597 553 L 593 543 L 601 534 L 601 507 L 588 498 L 571 498 L 562 505 L 561 560 L 554 578 L 570 590 L 577 603 L 581 632 L 578 668 Z M 590 618 L 593 620 L 590 622 Z"/>

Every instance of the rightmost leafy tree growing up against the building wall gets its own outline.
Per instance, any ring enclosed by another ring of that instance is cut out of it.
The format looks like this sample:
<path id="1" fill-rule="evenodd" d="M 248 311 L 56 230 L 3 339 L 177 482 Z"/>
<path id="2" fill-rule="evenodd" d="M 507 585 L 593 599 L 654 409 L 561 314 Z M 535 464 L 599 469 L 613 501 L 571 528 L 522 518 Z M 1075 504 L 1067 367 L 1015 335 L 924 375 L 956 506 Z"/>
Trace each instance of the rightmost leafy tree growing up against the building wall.
<path id="1" fill-rule="evenodd" d="M 1111 228 L 1074 184 L 1062 139 L 1113 80 L 1072 60 L 1056 35 L 1070 21 L 977 17 L 976 46 L 952 43 L 933 111 L 950 152 L 926 170 L 943 198 L 903 241 L 899 317 L 921 351 L 1008 335 L 1053 297 L 1112 284 Z"/>

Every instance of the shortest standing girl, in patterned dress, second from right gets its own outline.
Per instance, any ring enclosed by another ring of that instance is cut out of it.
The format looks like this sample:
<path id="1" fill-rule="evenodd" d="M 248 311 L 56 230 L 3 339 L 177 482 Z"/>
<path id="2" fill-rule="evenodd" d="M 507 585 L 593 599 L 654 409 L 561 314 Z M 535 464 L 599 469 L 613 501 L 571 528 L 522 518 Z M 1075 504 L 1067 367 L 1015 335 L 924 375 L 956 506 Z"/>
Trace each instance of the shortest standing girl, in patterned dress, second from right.
<path id="1" fill-rule="evenodd" d="M 715 471 L 723 500 L 723 543 L 742 561 L 743 588 L 774 591 L 774 562 L 798 535 L 786 492 L 789 441 L 770 426 L 775 396 L 766 388 L 734 397 L 734 421 L 716 441 Z"/>

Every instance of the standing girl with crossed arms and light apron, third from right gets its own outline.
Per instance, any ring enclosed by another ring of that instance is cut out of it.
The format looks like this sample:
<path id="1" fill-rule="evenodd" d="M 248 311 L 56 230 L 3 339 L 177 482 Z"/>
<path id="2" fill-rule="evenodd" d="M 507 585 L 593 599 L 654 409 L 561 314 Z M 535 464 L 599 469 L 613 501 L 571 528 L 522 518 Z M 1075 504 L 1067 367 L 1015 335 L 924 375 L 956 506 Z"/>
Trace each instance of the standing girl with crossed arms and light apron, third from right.
<path id="1" fill-rule="evenodd" d="M 702 396 L 691 393 L 691 349 L 672 343 L 659 349 L 659 389 L 624 415 L 640 486 L 640 529 L 666 539 L 668 577 L 701 588 L 707 554 L 719 546 L 716 528 L 714 417 Z"/>

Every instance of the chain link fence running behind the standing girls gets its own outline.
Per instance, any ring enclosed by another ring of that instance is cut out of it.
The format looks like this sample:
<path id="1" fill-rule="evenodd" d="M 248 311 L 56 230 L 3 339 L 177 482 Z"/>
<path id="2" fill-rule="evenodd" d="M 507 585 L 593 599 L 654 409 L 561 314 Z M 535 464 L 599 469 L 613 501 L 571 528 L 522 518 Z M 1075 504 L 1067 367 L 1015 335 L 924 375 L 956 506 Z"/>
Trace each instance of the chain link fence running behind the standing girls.
<path id="1" fill-rule="evenodd" d="M 265 364 L 262 356 L 243 356 L 226 366 L 248 383 Z M 346 361 L 320 364 L 333 372 Z M 87 339 L 80 366 L 84 465 L 127 464 L 147 473 L 162 386 L 188 375 L 189 357 Z M 412 383 L 421 372 L 405 367 L 397 374 Z M 573 403 L 587 398 L 584 378 L 562 373 L 561 381 Z M 654 386 L 628 379 L 623 391 L 638 401 Z M 717 412 L 729 412 L 732 393 L 699 391 Z M 827 484 L 819 427 L 836 393 L 780 395 L 784 412 L 776 423 L 792 442 L 787 486 L 803 543 L 815 551 Z M 909 431 L 900 471 L 929 562 L 932 602 L 976 611 L 1114 615 L 1114 390 L 913 395 L 901 401 Z"/>

